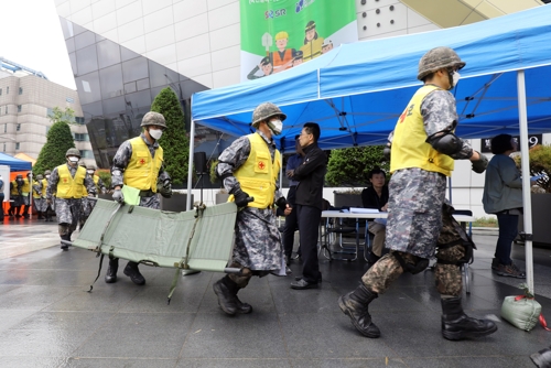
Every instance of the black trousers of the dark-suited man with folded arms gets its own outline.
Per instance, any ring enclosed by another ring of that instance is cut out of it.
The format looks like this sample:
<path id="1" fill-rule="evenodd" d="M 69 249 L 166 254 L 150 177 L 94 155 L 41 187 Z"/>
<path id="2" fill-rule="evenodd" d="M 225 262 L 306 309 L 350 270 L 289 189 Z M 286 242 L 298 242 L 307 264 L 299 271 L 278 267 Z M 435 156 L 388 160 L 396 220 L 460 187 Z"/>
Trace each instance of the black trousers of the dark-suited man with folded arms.
<path id="1" fill-rule="evenodd" d="M 312 206 L 295 205 L 299 216 L 299 234 L 302 252 L 302 278 L 309 283 L 317 283 L 320 264 L 317 263 L 317 236 L 322 210 Z"/>

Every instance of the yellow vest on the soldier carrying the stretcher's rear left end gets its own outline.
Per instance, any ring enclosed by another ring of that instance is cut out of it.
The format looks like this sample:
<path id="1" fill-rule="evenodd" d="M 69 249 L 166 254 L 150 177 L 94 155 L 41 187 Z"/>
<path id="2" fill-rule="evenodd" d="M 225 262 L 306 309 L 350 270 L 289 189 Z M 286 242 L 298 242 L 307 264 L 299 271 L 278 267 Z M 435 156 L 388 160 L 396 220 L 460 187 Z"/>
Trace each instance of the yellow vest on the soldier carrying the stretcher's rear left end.
<path id="1" fill-rule="evenodd" d="M 128 162 L 122 182 L 140 191 L 156 192 L 156 180 L 163 164 L 163 149 L 159 147 L 153 159 L 141 136 L 132 138 L 130 144 L 132 156 Z"/>

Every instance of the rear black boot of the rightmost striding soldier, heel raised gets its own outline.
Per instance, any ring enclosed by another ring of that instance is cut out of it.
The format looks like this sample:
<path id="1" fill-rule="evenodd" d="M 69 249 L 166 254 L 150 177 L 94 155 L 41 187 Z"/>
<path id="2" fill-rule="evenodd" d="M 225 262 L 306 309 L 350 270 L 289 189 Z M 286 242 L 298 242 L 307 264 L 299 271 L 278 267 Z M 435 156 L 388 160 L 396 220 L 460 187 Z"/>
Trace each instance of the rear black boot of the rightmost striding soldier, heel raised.
<path id="1" fill-rule="evenodd" d="M 361 335 L 377 338 L 380 336 L 379 327 L 371 322 L 368 306 L 377 296 L 377 293 L 369 291 L 366 285 L 359 285 L 355 291 L 342 295 L 338 299 L 341 311 L 350 317 L 352 324 Z"/>

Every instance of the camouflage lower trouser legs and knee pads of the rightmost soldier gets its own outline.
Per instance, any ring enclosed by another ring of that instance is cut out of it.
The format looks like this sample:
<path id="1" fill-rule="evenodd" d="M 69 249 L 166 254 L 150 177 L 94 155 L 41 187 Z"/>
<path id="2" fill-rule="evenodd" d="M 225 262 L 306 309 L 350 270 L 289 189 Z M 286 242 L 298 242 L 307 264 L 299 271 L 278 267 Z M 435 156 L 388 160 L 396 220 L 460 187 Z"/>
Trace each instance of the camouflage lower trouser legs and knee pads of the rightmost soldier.
<path id="1" fill-rule="evenodd" d="M 407 263 L 417 263 L 420 258 L 410 253 L 391 250 L 390 253 L 375 263 L 363 277 L 361 282 L 372 292 L 383 294 L 390 284 L 403 273 L 400 262 L 392 256 L 399 253 Z M 463 246 L 453 246 L 451 248 L 440 249 L 436 253 L 437 260 L 455 262 L 465 256 Z M 434 272 L 436 290 L 442 295 L 460 296 L 463 280 L 461 269 L 456 264 L 443 264 L 436 262 Z"/>

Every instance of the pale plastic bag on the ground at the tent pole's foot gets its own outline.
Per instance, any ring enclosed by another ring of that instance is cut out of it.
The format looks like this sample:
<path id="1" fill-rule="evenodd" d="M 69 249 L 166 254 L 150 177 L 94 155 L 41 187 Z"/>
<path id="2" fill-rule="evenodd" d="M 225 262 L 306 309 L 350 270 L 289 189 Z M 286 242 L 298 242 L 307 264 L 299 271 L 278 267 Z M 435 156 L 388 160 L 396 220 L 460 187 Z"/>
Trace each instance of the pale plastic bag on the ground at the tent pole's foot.
<path id="1" fill-rule="evenodd" d="M 526 295 L 506 296 L 501 317 L 523 331 L 531 331 L 539 321 L 541 304 Z"/>

